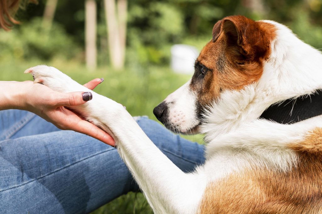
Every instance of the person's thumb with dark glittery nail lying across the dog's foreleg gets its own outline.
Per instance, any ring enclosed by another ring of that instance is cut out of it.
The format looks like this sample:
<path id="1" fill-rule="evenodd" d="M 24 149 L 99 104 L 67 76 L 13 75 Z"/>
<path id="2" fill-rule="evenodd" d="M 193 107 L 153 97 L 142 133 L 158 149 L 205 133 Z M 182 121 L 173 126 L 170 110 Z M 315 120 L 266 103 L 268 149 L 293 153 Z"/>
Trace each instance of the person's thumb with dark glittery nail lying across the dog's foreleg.
<path id="1" fill-rule="evenodd" d="M 61 93 L 58 96 L 57 106 L 79 106 L 93 98 L 91 92 Z"/>

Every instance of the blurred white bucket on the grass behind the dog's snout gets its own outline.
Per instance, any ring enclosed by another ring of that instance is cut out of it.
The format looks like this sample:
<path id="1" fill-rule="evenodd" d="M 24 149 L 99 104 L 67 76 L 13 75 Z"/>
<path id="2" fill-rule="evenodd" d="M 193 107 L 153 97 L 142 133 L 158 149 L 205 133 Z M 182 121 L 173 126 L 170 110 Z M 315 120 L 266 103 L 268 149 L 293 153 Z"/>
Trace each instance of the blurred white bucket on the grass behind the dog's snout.
<path id="1" fill-rule="evenodd" d="M 198 50 L 191 45 L 176 44 L 171 47 L 171 69 L 175 73 L 193 74 Z"/>

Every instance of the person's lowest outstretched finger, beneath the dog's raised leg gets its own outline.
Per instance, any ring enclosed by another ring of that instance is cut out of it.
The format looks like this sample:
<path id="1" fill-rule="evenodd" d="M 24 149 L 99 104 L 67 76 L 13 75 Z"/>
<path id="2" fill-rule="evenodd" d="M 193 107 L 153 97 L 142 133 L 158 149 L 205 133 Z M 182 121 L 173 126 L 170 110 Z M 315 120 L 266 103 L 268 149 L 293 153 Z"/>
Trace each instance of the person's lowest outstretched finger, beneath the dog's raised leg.
<path id="1" fill-rule="evenodd" d="M 115 147 L 115 141 L 111 135 L 86 120 L 80 120 L 77 125 L 73 127 L 73 130 L 94 137 L 105 144 Z"/>

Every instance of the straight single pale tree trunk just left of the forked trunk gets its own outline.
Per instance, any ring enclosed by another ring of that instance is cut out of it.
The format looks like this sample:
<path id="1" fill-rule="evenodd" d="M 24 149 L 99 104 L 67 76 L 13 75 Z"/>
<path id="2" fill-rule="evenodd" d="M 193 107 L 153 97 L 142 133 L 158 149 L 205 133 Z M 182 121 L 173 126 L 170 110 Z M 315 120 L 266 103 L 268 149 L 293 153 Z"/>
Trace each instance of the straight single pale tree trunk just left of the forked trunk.
<path id="1" fill-rule="evenodd" d="M 85 54 L 86 66 L 89 70 L 95 70 L 97 66 L 96 49 L 96 2 L 85 1 Z"/>

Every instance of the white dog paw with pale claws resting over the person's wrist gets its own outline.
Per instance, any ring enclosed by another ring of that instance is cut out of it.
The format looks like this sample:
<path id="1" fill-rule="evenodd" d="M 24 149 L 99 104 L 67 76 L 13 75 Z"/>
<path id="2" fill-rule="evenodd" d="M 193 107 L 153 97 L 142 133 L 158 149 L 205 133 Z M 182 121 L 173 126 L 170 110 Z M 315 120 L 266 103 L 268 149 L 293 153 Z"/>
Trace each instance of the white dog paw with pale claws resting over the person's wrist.
<path id="1" fill-rule="evenodd" d="M 33 75 L 33 83 L 40 83 L 60 92 L 81 91 L 81 86 L 60 70 L 46 66 L 37 65 L 24 71 Z"/>

